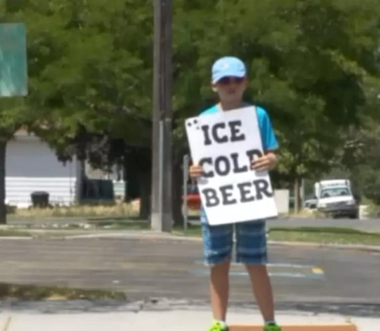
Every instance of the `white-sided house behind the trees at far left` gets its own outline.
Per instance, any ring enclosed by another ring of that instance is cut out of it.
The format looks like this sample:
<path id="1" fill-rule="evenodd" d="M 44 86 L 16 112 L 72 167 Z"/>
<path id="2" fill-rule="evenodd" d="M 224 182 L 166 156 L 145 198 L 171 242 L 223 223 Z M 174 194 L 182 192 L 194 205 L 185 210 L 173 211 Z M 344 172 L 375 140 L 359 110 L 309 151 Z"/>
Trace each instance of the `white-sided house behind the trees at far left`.
<path id="1" fill-rule="evenodd" d="M 32 192 L 46 191 L 51 204 L 71 204 L 75 200 L 76 167 L 76 160 L 64 165 L 45 142 L 19 130 L 7 144 L 6 202 L 26 208 L 31 205 Z"/>

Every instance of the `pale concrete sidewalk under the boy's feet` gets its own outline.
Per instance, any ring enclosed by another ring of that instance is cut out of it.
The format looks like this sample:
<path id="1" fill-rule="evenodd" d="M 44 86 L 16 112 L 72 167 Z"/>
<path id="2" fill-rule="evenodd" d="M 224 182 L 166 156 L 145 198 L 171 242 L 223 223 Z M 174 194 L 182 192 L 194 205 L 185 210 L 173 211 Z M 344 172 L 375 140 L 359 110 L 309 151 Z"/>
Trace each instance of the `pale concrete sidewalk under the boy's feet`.
<path id="1" fill-rule="evenodd" d="M 36 314 L 3 311 L 0 315 L 2 331 L 204 331 L 210 323 L 208 311 L 142 311 L 117 313 L 79 313 L 78 314 Z M 315 330 L 315 331 L 372 331 L 378 330 L 380 318 L 351 318 L 339 315 L 313 315 L 298 312 L 278 312 L 277 320 L 284 327 L 283 331 Z M 229 313 L 230 325 L 261 325 L 258 312 L 248 311 Z M 286 325 L 305 325 L 289 328 Z M 316 328 L 317 325 L 328 327 Z M 258 327 L 257 330 L 260 330 Z M 232 327 L 231 331 L 254 331 L 256 328 Z"/>

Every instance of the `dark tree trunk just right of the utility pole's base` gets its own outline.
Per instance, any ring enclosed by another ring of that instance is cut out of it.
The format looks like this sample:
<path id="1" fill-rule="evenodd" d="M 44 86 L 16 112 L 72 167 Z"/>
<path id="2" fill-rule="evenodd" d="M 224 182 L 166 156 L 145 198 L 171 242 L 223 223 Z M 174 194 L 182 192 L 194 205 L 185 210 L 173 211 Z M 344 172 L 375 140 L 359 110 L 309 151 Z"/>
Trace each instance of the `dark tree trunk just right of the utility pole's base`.
<path id="1" fill-rule="evenodd" d="M 182 214 L 182 184 L 183 168 L 182 160 L 176 157 L 173 161 L 173 182 L 172 182 L 172 199 L 173 199 L 173 219 L 175 225 L 183 224 Z"/>

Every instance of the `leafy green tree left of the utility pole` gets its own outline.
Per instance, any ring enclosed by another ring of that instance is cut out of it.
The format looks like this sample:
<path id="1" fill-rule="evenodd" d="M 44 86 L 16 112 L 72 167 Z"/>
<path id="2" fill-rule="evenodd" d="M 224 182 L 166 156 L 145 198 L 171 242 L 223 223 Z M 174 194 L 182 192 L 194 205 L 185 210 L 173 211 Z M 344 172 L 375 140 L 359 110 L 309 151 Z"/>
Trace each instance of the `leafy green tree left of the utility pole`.
<path id="1" fill-rule="evenodd" d="M 144 158 L 151 142 L 150 3 L 49 1 L 38 7 L 30 0 L 16 12 L 31 40 L 31 130 L 61 160 L 76 155 L 109 169 L 125 163 L 129 148 L 141 149 Z"/>

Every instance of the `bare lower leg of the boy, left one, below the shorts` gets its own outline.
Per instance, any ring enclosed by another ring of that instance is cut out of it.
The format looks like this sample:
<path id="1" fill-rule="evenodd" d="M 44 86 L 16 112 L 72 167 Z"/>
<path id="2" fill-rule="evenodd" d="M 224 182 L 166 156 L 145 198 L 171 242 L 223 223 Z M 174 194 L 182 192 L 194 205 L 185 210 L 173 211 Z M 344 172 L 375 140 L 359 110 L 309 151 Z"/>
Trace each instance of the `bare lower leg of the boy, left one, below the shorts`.
<path id="1" fill-rule="evenodd" d="M 210 270 L 210 299 L 214 318 L 226 320 L 229 295 L 230 260 L 226 260 Z"/>

